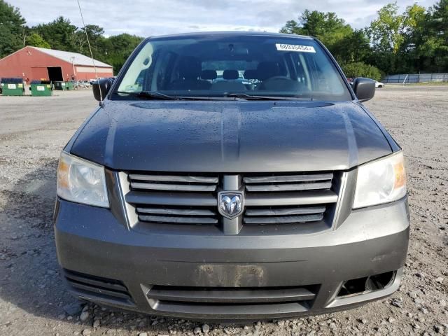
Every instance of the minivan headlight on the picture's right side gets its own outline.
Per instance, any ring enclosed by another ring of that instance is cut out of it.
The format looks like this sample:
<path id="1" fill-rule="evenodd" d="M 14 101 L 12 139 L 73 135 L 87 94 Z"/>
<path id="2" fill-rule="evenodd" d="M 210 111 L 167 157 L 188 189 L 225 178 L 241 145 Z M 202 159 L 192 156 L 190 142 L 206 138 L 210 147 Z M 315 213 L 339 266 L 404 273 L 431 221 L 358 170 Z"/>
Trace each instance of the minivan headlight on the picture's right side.
<path id="1" fill-rule="evenodd" d="M 402 151 L 358 167 L 353 208 L 393 202 L 405 195 L 405 159 Z"/>

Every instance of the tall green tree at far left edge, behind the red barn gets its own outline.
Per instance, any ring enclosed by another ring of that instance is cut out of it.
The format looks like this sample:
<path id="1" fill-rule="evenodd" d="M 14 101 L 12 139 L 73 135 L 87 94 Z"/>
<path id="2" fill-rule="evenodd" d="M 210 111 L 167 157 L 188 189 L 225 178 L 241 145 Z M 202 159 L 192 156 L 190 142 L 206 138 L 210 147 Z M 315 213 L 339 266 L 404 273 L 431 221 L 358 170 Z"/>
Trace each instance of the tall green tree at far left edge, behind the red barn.
<path id="1" fill-rule="evenodd" d="M 22 48 L 22 33 L 25 19 L 18 8 L 0 0 L 0 58 Z"/>

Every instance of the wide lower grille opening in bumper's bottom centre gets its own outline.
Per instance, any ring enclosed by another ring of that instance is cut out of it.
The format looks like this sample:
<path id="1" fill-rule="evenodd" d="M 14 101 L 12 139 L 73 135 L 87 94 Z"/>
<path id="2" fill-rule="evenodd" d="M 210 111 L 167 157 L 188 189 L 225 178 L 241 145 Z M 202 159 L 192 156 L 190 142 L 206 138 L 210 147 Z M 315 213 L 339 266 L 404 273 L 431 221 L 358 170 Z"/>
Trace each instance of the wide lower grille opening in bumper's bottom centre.
<path id="1" fill-rule="evenodd" d="M 290 287 L 183 287 L 148 286 L 151 307 L 158 311 L 197 314 L 263 314 L 307 311 L 319 286 Z"/>

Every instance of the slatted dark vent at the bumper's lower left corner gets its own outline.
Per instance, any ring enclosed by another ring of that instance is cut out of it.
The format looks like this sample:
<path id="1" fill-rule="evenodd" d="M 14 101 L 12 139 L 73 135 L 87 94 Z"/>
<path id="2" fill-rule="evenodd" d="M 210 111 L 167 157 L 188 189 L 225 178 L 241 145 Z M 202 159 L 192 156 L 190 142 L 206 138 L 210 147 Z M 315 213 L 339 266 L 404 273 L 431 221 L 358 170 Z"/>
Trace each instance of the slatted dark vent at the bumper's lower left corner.
<path id="1" fill-rule="evenodd" d="M 121 281 L 64 269 L 64 277 L 73 293 L 90 300 L 132 304 L 132 297 Z"/>

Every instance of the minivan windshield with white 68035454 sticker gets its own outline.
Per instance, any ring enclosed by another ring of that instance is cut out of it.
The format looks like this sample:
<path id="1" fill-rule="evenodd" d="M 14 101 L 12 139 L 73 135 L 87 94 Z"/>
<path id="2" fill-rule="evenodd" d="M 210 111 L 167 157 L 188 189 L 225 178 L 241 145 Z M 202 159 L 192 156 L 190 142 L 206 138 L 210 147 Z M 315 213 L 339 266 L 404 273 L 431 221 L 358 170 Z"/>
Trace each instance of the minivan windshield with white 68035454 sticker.
<path id="1" fill-rule="evenodd" d="M 313 39 L 231 34 L 149 39 L 115 93 L 351 100 L 342 76 Z"/>

